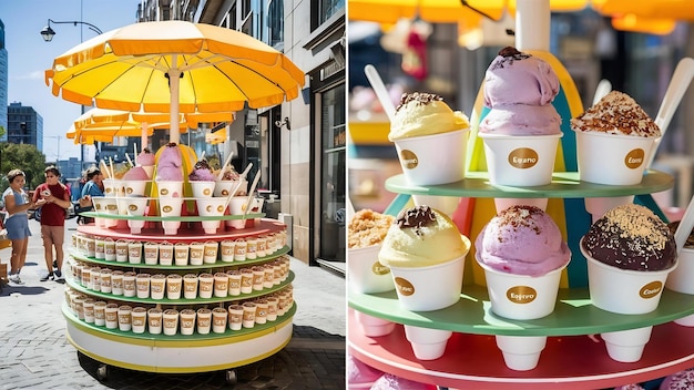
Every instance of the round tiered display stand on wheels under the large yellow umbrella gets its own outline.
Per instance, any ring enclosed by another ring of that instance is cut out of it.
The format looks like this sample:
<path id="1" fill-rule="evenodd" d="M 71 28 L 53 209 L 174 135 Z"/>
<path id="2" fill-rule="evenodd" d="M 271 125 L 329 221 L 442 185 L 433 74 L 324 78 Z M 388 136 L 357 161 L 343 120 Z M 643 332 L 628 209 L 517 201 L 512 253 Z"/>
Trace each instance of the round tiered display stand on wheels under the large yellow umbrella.
<path id="1" fill-rule="evenodd" d="M 161 217 L 133 217 L 125 215 L 104 215 L 95 213 L 83 213 L 90 217 L 112 218 L 112 219 L 141 219 L 149 222 L 161 222 Z M 263 214 L 248 214 L 248 219 L 261 218 Z M 177 235 L 167 236 L 163 234 L 161 228 L 144 228 L 141 234 L 131 234 L 127 227 L 123 228 L 102 228 L 92 225 L 79 226 L 78 232 L 84 235 L 111 237 L 113 240 L 127 239 L 147 243 L 169 242 L 175 243 L 194 243 L 203 240 L 221 242 L 224 239 L 247 238 L 252 236 L 267 235 L 285 229 L 285 225 L 274 219 L 261 219 L 256 222 L 254 227 L 245 229 L 227 229 L 222 227 L 217 234 L 205 234 L 198 226 L 201 218 L 216 218 L 222 220 L 238 219 L 241 216 L 220 216 L 220 217 L 167 217 L 167 220 L 182 220 L 182 226 Z M 190 224 L 187 224 L 190 223 Z M 197 225 L 195 225 L 197 223 Z M 223 223 L 224 225 L 224 223 Z M 120 269 L 123 271 L 134 270 L 149 274 L 171 273 L 186 274 L 190 271 L 211 273 L 214 274 L 223 268 L 232 267 L 249 267 L 263 265 L 274 261 L 289 252 L 287 246 L 274 252 L 272 255 L 258 257 L 256 259 L 246 259 L 244 261 L 225 263 L 217 259 L 214 264 L 187 265 L 187 266 L 164 266 L 147 265 L 144 260 L 141 264 L 116 263 L 112 260 L 96 259 L 86 257 L 76 250 L 71 253 L 73 260 L 93 264 L 99 267 L 108 267 L 111 269 Z M 185 308 L 194 308 L 207 306 L 224 306 L 231 301 L 241 301 L 267 296 L 290 286 L 294 280 L 294 274 L 288 273 L 287 278 L 272 288 L 263 290 L 254 290 L 249 294 L 241 294 L 239 296 L 213 297 L 184 299 L 152 299 L 124 297 L 122 295 L 112 295 L 99 292 L 88 289 L 76 283 L 73 277 L 67 278 L 70 288 L 80 291 L 94 300 L 115 301 L 131 306 L 153 306 L 173 307 L 178 310 Z M 134 333 L 132 331 L 120 331 L 119 329 L 108 329 L 103 326 L 95 326 L 80 320 L 65 304 L 63 305 L 63 315 L 68 322 L 68 339 L 82 353 L 102 362 L 99 368 L 98 376 L 105 379 L 108 374 L 108 365 L 122 367 L 139 371 L 149 372 L 205 372 L 214 370 L 227 370 L 226 379 L 228 382 L 236 381 L 236 373 L 233 368 L 248 365 L 265 359 L 279 350 L 282 350 L 292 338 L 293 317 L 296 312 L 296 305 L 283 315 L 278 316 L 275 321 L 266 324 L 255 324 L 253 328 L 242 328 L 241 330 L 229 330 L 228 326 L 223 333 L 211 331 L 207 335 L 194 332 L 191 336 L 183 336 L 177 332 L 175 336 L 151 335 L 145 330 L 144 333 Z"/>

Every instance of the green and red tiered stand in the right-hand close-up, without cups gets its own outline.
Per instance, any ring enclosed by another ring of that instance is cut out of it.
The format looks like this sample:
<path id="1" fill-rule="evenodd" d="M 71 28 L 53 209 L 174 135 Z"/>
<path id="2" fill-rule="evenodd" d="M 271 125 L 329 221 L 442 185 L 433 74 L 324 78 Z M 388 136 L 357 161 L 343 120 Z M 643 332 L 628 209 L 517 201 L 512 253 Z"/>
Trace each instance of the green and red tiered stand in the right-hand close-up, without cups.
<path id="1" fill-rule="evenodd" d="M 538 187 L 507 187 L 489 184 L 487 173 L 436 186 L 410 186 L 402 175 L 386 181 L 386 188 L 409 195 L 517 198 L 585 198 L 649 194 L 672 187 L 674 179 L 649 171 L 639 185 L 606 186 L 583 183 L 578 173 L 555 173 L 552 183 Z M 570 223 L 570 222 L 568 222 Z M 473 237 L 472 237 L 473 238 Z M 578 243 L 570 243 L 571 245 Z M 572 263 L 583 259 L 573 250 Z M 467 261 L 474 261 L 468 256 Z M 584 263 L 584 260 L 582 261 Z M 432 280 L 435 283 L 435 280 Z M 358 294 L 349 291 L 348 348 L 357 359 L 402 378 L 460 389 L 598 389 L 641 382 L 694 366 L 694 329 L 671 321 L 694 314 L 694 296 L 664 290 L 659 308 L 647 315 L 618 315 L 591 304 L 588 288 L 561 288 L 557 308 L 535 320 L 510 320 L 491 312 L 484 286 L 463 284 L 458 304 L 436 311 L 400 308 L 396 291 Z M 354 310 L 398 324 L 382 337 L 367 337 Z M 399 325 L 452 330 L 446 352 L 436 360 L 418 360 Z M 605 346 L 593 335 L 654 326 L 642 358 L 633 363 L 612 360 Z M 513 371 L 507 368 L 496 345 L 496 335 L 549 336 L 537 368 Z"/>

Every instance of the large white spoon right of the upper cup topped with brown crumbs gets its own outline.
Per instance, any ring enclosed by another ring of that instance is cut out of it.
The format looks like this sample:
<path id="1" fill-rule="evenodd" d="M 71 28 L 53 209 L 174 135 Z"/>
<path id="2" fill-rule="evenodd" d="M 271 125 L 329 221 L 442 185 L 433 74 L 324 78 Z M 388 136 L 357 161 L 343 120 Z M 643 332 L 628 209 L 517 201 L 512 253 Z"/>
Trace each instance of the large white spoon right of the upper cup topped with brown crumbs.
<path id="1" fill-rule="evenodd" d="M 663 101 L 661 102 L 661 107 L 657 111 L 657 115 L 655 116 L 655 124 L 661 127 L 661 137 L 655 140 L 655 145 L 651 152 L 651 157 L 649 158 L 649 164 L 646 167 L 651 167 L 653 164 L 653 160 L 655 158 L 655 152 L 657 151 L 657 146 L 663 140 L 665 132 L 667 131 L 667 126 L 670 125 L 670 121 L 672 116 L 675 114 L 680 102 L 682 101 L 682 96 L 684 92 L 686 92 L 692 79 L 694 78 L 694 59 L 684 58 L 680 60 L 677 66 L 675 68 L 675 72 L 672 74 L 672 79 L 670 80 L 670 84 L 667 85 L 667 90 L 665 91 L 665 95 L 663 96 Z"/>

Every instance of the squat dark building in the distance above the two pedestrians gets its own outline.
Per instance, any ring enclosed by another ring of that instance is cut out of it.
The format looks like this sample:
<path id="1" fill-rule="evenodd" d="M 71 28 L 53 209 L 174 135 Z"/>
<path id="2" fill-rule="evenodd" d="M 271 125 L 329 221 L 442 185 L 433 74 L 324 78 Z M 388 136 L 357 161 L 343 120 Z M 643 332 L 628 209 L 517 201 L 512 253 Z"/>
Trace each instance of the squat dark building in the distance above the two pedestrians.
<path id="1" fill-rule="evenodd" d="M 43 117 L 31 106 L 12 102 L 8 106 L 8 142 L 31 144 L 43 151 Z"/>

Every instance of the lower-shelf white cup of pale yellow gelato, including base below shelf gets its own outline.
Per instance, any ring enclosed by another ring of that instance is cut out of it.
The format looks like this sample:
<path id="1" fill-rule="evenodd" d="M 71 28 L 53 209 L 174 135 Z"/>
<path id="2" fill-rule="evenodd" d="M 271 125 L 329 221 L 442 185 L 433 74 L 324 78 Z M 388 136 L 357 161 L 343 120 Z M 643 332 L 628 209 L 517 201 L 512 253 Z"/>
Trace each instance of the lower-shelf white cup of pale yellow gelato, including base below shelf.
<path id="1" fill-rule="evenodd" d="M 469 250 L 470 240 L 447 215 L 428 206 L 417 206 L 400 212 L 390 225 L 378 260 L 390 268 L 400 307 L 430 311 L 460 299 L 465 257 Z M 410 326 L 406 331 L 420 360 L 442 356 L 452 335 L 449 330 Z M 436 340 L 436 348 L 430 346 L 431 340 Z"/>

